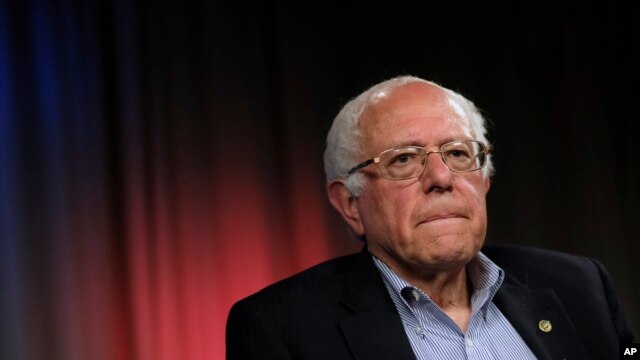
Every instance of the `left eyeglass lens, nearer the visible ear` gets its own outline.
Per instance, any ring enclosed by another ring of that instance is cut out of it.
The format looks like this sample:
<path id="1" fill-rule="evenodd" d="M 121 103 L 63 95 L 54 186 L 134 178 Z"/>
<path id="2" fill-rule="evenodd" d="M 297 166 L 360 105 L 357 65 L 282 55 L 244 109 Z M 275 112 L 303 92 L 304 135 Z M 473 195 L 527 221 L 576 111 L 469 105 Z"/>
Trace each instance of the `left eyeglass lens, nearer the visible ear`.
<path id="1" fill-rule="evenodd" d="M 409 179 L 422 173 L 424 161 L 421 148 L 391 149 L 380 154 L 380 171 L 388 179 Z"/>

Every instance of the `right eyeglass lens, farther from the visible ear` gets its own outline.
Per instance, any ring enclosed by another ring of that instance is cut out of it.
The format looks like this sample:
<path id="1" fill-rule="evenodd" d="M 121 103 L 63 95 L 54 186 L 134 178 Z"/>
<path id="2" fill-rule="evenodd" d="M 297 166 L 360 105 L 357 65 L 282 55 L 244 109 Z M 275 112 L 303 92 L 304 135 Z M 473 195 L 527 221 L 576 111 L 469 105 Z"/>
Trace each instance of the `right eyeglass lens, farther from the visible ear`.
<path id="1" fill-rule="evenodd" d="M 479 141 L 454 141 L 442 146 L 442 156 L 453 171 L 473 171 L 487 161 L 484 144 Z"/>

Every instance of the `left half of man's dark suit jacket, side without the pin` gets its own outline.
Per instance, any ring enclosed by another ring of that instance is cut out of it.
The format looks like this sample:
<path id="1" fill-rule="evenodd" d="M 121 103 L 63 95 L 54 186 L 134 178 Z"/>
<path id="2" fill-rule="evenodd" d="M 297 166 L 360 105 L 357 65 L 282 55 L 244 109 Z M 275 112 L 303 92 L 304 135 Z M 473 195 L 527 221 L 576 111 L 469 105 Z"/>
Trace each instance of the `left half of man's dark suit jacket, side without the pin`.
<path id="1" fill-rule="evenodd" d="M 327 261 L 236 303 L 228 359 L 414 359 L 366 251 Z"/>

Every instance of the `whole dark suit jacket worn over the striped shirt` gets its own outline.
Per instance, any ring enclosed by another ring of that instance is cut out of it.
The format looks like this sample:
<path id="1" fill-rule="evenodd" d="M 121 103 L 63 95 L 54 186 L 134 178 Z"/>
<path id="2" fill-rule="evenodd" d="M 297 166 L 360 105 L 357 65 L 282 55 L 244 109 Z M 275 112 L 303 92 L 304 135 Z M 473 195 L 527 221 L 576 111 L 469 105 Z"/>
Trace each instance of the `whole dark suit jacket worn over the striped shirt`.
<path id="1" fill-rule="evenodd" d="M 617 359 L 632 341 L 598 262 L 548 250 L 485 246 L 504 269 L 494 302 L 539 359 Z M 539 329 L 549 320 L 550 332 Z M 414 359 L 371 255 L 330 260 L 236 303 L 227 359 Z"/>

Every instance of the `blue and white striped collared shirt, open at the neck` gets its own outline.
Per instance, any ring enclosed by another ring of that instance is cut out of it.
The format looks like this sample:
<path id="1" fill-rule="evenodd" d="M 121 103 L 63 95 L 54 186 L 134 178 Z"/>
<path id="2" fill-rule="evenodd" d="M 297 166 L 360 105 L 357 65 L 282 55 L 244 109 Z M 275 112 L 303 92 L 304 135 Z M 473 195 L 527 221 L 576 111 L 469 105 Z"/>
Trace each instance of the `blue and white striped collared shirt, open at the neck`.
<path id="1" fill-rule="evenodd" d="M 527 344 L 492 299 L 504 271 L 479 252 L 467 265 L 473 285 L 466 333 L 422 290 L 373 257 L 398 309 L 417 359 L 535 359 Z"/>

